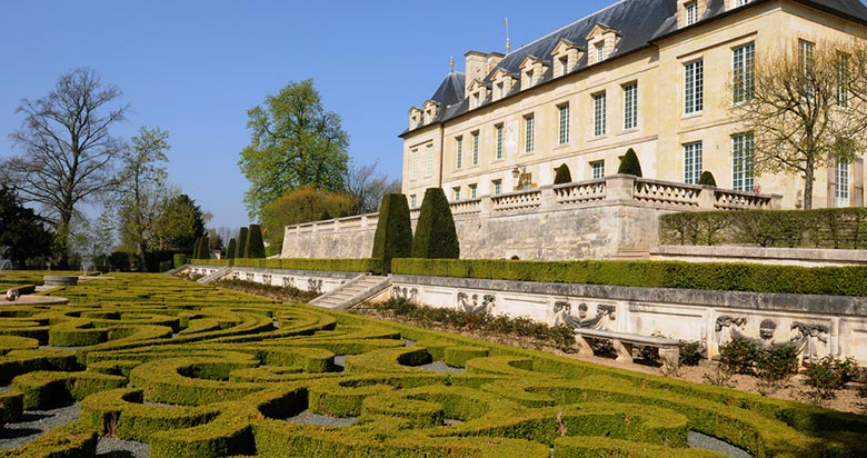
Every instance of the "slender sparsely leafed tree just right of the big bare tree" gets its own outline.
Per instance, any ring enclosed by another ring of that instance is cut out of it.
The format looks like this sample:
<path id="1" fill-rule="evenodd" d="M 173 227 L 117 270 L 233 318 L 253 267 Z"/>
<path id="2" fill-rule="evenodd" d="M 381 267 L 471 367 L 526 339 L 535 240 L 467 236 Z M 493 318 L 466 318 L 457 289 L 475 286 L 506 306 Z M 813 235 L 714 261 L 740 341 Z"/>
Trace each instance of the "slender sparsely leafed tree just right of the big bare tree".
<path id="1" fill-rule="evenodd" d="M 118 176 L 120 235 L 132 247 L 139 265 L 146 270 L 146 255 L 153 245 L 155 223 L 166 202 L 169 172 L 161 162 L 168 161 L 169 132 L 141 127 L 132 137 L 131 148 L 122 155 L 123 168 Z"/>

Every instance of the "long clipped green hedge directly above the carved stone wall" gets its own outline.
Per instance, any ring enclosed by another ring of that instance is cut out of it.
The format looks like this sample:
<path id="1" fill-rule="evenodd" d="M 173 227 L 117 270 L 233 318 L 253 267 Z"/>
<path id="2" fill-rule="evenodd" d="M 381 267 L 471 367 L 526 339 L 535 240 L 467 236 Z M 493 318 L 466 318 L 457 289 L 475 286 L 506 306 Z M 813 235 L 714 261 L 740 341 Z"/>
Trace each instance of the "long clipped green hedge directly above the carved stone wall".
<path id="1" fill-rule="evenodd" d="M 797 267 L 680 261 L 395 259 L 400 275 L 645 288 L 867 296 L 867 266 Z"/>

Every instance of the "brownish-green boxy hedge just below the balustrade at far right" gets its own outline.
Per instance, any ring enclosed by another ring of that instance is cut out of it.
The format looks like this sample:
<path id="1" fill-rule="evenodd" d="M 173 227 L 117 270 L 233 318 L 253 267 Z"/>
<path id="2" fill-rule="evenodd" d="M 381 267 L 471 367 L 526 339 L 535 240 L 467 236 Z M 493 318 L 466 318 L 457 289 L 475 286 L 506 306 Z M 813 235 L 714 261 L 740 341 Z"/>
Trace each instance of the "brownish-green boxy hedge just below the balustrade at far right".
<path id="1" fill-rule="evenodd" d="M 659 217 L 667 245 L 867 248 L 867 208 L 698 211 Z"/>

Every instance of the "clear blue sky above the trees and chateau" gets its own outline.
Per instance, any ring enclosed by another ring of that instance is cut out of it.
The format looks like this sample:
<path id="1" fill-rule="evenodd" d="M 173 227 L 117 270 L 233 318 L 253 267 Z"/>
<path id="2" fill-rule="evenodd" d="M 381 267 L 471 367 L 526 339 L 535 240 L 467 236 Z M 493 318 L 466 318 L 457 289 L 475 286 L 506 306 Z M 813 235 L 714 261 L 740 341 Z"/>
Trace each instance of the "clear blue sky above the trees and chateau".
<path id="1" fill-rule="evenodd" d="M 209 227 L 247 225 L 248 183 L 238 168 L 249 142 L 247 110 L 289 81 L 312 78 L 326 109 L 342 118 L 349 153 L 398 178 L 408 110 L 437 89 L 454 56 L 505 51 L 614 0 L 557 1 L 2 1 L 0 158 L 37 99 L 71 69 L 96 70 L 123 91 L 132 112 L 113 130 L 170 132 L 169 177 L 205 211 Z"/>

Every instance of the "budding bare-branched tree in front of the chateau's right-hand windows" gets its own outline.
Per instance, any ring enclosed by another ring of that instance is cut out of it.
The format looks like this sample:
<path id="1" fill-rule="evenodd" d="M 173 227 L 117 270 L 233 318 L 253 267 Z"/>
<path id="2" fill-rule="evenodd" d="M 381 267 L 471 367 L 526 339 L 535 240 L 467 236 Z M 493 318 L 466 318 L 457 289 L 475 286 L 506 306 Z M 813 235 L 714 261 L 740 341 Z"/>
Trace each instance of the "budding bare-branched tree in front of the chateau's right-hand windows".
<path id="1" fill-rule="evenodd" d="M 754 170 L 798 173 L 804 208 L 813 208 L 816 169 L 867 150 L 865 53 L 849 43 L 809 42 L 757 56 L 755 73 L 733 78 L 731 113 L 754 136 Z"/>

